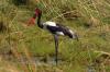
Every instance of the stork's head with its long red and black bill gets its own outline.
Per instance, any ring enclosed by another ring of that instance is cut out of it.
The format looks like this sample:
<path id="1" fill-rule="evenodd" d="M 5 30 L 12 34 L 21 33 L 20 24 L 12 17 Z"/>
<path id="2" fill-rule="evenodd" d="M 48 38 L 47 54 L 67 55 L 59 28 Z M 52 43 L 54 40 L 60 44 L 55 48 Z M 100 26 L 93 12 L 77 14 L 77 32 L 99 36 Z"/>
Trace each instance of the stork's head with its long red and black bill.
<path id="1" fill-rule="evenodd" d="M 35 19 L 36 19 L 37 16 L 40 16 L 41 13 L 42 13 L 42 11 L 41 11 L 38 8 L 36 8 L 35 11 L 34 11 L 33 17 L 31 17 L 31 19 L 29 20 L 28 25 L 35 25 Z"/>

